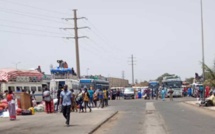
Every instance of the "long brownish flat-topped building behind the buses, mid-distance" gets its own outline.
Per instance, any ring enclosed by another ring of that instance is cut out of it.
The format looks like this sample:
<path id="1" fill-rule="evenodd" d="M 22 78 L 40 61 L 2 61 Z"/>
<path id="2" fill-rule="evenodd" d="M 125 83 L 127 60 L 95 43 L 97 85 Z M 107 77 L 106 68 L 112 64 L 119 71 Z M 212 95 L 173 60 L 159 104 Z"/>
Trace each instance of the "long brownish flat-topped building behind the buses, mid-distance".
<path id="1" fill-rule="evenodd" d="M 129 81 L 126 79 L 108 77 L 107 80 L 110 83 L 110 88 L 111 87 L 128 87 L 129 86 Z"/>

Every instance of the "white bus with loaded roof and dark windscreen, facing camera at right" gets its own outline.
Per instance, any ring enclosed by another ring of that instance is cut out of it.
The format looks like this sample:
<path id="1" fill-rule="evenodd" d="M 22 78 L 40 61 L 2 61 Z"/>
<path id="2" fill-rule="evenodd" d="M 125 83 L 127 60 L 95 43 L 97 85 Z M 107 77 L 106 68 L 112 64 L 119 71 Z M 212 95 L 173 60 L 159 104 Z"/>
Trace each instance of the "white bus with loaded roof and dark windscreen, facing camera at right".
<path id="1" fill-rule="evenodd" d="M 182 80 L 181 77 L 177 75 L 169 75 L 163 78 L 162 85 L 167 91 L 167 97 L 169 97 L 169 89 L 172 88 L 174 97 L 182 97 L 183 96 L 183 88 L 182 88 Z"/>

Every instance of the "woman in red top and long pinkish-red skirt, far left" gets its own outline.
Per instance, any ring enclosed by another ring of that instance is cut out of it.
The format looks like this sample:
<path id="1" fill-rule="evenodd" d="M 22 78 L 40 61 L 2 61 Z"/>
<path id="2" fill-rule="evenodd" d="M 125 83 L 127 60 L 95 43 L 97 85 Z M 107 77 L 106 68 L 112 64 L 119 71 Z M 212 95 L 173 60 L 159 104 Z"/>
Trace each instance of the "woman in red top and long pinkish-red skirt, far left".
<path id="1" fill-rule="evenodd" d="M 16 107 L 15 107 L 15 95 L 13 91 L 9 88 L 8 94 L 6 96 L 8 102 L 8 110 L 10 115 L 10 120 L 16 120 Z"/>

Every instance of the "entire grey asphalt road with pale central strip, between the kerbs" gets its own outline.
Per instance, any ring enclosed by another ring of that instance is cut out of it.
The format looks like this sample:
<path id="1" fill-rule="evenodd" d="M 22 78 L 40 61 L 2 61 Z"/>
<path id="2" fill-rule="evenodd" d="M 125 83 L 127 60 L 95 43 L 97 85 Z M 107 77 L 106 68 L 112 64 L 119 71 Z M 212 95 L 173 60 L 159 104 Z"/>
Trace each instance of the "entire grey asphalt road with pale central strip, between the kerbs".
<path id="1" fill-rule="evenodd" d="M 193 98 L 113 100 L 118 114 L 94 134 L 214 134 L 215 112 L 183 103 Z"/>

